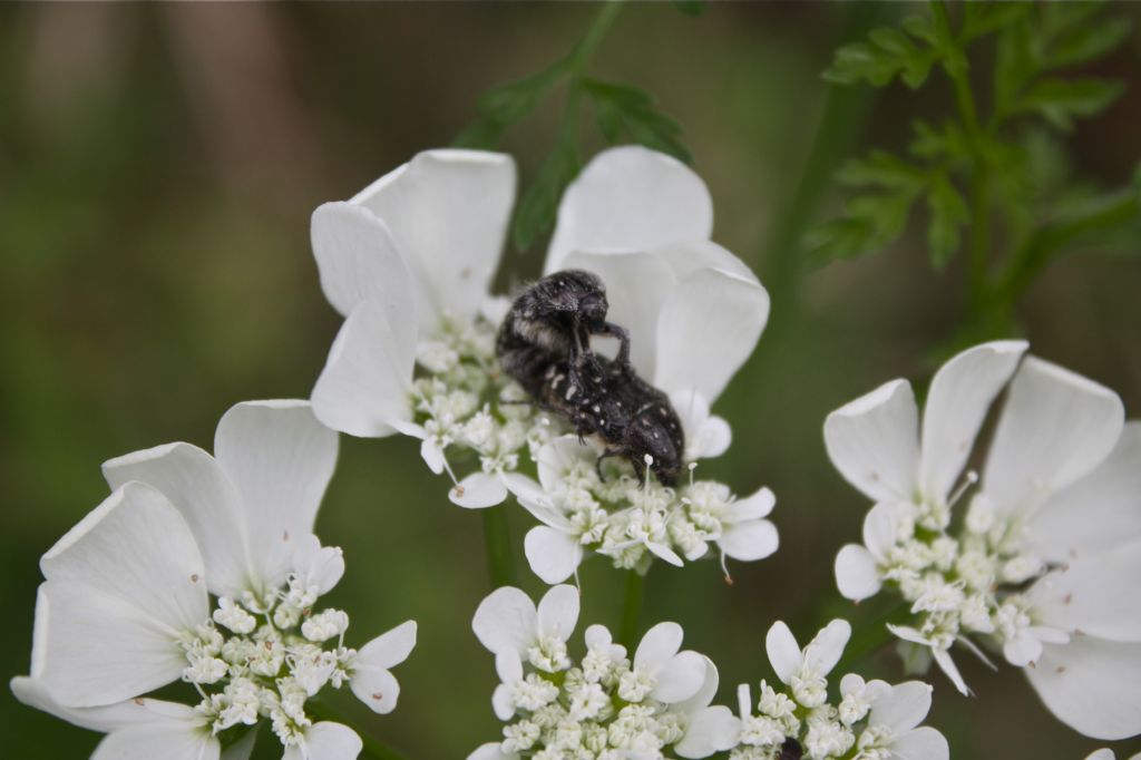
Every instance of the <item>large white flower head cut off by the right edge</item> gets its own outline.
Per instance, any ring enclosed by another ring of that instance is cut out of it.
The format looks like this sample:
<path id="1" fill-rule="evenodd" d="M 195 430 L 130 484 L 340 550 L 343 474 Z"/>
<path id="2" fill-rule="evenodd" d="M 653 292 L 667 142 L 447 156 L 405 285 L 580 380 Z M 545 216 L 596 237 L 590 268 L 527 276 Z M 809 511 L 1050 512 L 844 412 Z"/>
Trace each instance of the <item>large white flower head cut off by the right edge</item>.
<path id="1" fill-rule="evenodd" d="M 1141 733 L 1141 423 L 1124 422 L 1108 388 L 1026 348 L 998 341 L 948 361 L 922 429 L 905 380 L 828 415 L 833 463 L 876 501 L 864 544 L 836 557 L 836 582 L 856 600 L 901 595 L 913 621 L 892 630 L 964 694 L 949 649 L 984 656 L 978 641 L 1023 668 L 1073 728 L 1124 738 Z M 1004 388 L 982 471 L 964 475 Z"/>

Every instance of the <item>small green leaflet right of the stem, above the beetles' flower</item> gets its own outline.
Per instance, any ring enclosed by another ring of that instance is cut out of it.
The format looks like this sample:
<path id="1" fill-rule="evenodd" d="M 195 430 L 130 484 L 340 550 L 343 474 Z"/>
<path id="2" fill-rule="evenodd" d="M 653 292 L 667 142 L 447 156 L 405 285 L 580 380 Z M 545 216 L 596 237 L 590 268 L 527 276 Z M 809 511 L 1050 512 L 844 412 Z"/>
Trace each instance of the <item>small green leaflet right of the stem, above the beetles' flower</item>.
<path id="1" fill-rule="evenodd" d="M 681 143 L 681 126 L 657 111 L 654 98 L 641 88 L 618 82 L 584 79 L 583 89 L 594 107 L 598 128 L 608 143 L 629 139 L 680 161 L 693 155 Z"/>

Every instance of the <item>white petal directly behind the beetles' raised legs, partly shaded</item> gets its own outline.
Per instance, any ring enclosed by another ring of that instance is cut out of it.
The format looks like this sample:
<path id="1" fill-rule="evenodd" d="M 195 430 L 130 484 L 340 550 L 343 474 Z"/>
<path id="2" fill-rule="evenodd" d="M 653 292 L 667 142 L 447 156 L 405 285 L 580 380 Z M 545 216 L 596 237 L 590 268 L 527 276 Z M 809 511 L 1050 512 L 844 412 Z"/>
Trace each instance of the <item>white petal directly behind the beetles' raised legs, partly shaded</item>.
<path id="1" fill-rule="evenodd" d="M 670 267 L 657 257 L 641 251 L 594 253 L 575 252 L 566 258 L 565 268 L 586 269 L 598 275 L 606 285 L 609 310 L 606 318 L 620 324 L 630 333 L 630 363 L 647 381 L 654 379 L 657 351 L 673 343 L 659 343 L 658 318 L 663 299 L 677 281 Z M 602 354 L 614 356 L 617 343 L 597 347 Z M 688 346 L 685 347 L 688 349 Z M 654 385 L 659 383 L 655 382 Z M 682 386 L 685 387 L 685 386 Z M 679 388 L 662 387 L 667 394 Z"/>

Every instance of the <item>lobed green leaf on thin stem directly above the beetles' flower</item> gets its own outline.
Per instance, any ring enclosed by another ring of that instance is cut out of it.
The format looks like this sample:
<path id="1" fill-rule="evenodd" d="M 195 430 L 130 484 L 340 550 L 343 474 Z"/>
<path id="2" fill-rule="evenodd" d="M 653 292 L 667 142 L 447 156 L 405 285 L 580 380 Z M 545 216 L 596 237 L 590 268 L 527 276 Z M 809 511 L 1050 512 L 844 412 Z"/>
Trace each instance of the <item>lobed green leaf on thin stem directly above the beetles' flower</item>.
<path id="1" fill-rule="evenodd" d="M 704 8 L 703 2 L 675 5 L 689 15 L 698 15 Z M 476 106 L 476 119 L 453 140 L 456 147 L 494 149 L 508 129 L 527 119 L 556 88 L 565 84 L 566 106 L 556 144 L 535 178 L 520 193 L 511 223 L 511 240 L 520 251 L 529 249 L 553 226 L 559 199 L 582 168 L 578 134 L 583 95 L 590 99 L 594 123 L 607 143 L 636 143 L 687 163 L 693 160 L 681 142 L 681 126 L 657 110 L 649 92 L 586 74 L 591 54 L 621 7 L 618 2 L 604 3 L 594 24 L 575 48 L 540 73 L 484 94 Z"/>

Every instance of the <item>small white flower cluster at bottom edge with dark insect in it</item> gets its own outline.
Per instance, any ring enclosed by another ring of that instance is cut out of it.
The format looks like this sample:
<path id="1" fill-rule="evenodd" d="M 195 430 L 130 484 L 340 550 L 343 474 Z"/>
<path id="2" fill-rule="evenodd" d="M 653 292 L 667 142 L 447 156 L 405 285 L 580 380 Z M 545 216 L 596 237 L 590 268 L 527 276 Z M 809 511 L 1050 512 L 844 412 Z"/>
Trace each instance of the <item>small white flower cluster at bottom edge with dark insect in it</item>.
<path id="1" fill-rule="evenodd" d="M 741 738 L 731 760 L 947 760 L 947 739 L 920 727 L 931 709 L 926 684 L 892 686 L 848 673 L 840 680 L 839 702 L 830 703 L 826 676 L 850 634 L 847 622 L 834 620 L 802 650 L 784 623 L 769 629 L 769 662 L 786 688 L 761 681 L 754 703 L 747 684 L 737 687 Z"/>

